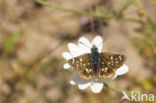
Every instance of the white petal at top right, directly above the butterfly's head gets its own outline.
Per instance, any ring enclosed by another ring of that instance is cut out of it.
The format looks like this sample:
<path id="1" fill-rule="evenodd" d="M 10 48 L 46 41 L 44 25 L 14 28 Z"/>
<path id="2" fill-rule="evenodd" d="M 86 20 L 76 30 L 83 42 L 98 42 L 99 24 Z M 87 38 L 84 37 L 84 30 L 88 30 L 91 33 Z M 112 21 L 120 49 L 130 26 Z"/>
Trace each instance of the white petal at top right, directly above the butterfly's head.
<path id="1" fill-rule="evenodd" d="M 103 48 L 103 40 L 101 36 L 96 36 L 92 41 L 92 46 L 95 45 L 98 48 L 98 52 L 101 52 Z"/>

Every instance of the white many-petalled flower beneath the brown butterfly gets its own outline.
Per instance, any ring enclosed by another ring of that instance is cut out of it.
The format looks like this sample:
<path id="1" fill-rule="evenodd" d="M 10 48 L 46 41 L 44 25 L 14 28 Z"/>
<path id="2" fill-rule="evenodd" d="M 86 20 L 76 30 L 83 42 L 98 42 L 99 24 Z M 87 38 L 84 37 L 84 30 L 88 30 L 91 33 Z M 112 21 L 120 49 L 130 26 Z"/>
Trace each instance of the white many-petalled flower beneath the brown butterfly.
<path id="1" fill-rule="evenodd" d="M 69 60 L 71 58 L 80 56 L 84 53 L 91 53 L 90 48 L 92 47 L 92 45 L 94 44 L 97 48 L 98 48 L 98 52 L 100 53 L 103 47 L 103 40 L 100 36 L 96 36 L 92 43 L 90 43 L 88 41 L 88 39 L 86 39 L 85 37 L 81 37 L 78 40 L 78 45 L 73 44 L 73 43 L 69 43 L 68 44 L 68 48 L 70 52 L 64 52 L 62 55 L 66 60 Z M 69 64 L 64 64 L 64 69 L 75 72 L 74 70 L 72 70 L 70 68 Z M 102 88 L 103 88 L 103 82 L 104 81 L 110 81 L 115 79 L 118 75 L 123 75 L 125 73 L 128 72 L 128 66 L 127 65 L 123 65 L 122 67 L 118 68 L 115 72 L 115 75 L 112 78 L 108 78 L 108 79 L 90 79 L 90 80 L 85 80 L 80 78 L 79 74 L 77 73 L 71 80 L 70 80 L 70 84 L 72 85 L 78 85 L 79 89 L 86 89 L 90 86 L 91 90 L 94 93 L 99 93 Z"/>

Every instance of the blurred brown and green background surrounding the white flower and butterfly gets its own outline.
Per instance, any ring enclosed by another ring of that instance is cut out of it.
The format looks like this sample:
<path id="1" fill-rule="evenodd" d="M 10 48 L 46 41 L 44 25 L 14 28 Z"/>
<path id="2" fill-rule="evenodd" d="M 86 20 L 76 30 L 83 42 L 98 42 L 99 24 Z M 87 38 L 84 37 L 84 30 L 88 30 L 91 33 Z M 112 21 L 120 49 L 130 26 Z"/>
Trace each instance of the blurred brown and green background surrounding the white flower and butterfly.
<path id="1" fill-rule="evenodd" d="M 74 74 L 63 69 L 67 44 L 97 34 L 103 51 L 127 56 L 129 72 L 108 84 L 156 95 L 156 0 L 44 1 L 71 11 L 0 0 L 0 103 L 121 102 L 122 94 L 105 87 L 94 94 L 70 85 Z"/>

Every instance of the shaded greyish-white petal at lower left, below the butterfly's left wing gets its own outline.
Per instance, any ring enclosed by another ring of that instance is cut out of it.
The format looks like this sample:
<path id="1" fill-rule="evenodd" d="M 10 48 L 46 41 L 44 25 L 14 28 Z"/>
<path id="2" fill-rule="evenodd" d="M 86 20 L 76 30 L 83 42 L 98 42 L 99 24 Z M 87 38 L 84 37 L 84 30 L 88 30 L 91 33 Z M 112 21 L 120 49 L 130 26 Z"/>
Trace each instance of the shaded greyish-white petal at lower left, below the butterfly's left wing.
<path id="1" fill-rule="evenodd" d="M 72 77 L 72 79 L 70 80 L 70 84 L 71 85 L 75 85 L 75 84 L 84 84 L 84 83 L 88 83 L 91 82 L 92 80 L 85 80 L 80 78 L 80 76 L 77 74 L 74 77 Z"/>

